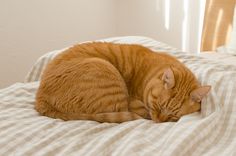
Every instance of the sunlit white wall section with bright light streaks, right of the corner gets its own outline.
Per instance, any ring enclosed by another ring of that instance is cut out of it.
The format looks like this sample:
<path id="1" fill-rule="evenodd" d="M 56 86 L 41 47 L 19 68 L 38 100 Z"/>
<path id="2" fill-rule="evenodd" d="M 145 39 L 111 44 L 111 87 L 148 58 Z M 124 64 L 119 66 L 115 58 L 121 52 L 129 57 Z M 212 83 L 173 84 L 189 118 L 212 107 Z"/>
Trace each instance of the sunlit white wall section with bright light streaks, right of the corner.
<path id="1" fill-rule="evenodd" d="M 199 51 L 205 0 L 119 0 L 119 35 L 150 36 L 183 51 Z"/>

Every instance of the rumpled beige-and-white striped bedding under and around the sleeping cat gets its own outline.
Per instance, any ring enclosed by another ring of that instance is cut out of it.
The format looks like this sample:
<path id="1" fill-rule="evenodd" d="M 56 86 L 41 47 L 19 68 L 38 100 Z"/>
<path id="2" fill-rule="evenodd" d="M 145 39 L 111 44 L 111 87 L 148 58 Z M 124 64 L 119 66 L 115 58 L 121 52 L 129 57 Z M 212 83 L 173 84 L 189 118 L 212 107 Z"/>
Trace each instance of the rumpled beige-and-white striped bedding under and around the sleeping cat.
<path id="1" fill-rule="evenodd" d="M 62 121 L 34 110 L 45 65 L 62 50 L 43 55 L 26 76 L 0 90 L 0 155 L 190 156 L 236 155 L 236 66 L 179 51 L 145 37 L 102 41 L 136 43 L 165 51 L 188 66 L 201 84 L 212 85 L 201 112 L 178 122 Z"/>

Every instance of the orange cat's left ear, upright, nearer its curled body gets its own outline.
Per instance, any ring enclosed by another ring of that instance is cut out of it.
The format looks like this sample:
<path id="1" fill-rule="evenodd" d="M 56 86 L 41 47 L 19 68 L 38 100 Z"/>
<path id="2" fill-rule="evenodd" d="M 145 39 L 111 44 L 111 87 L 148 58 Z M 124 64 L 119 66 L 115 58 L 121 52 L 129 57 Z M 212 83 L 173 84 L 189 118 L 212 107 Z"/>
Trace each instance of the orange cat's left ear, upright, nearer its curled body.
<path id="1" fill-rule="evenodd" d="M 171 89 L 175 86 L 174 73 L 170 68 L 167 68 L 162 76 L 162 81 L 164 82 L 165 89 Z"/>

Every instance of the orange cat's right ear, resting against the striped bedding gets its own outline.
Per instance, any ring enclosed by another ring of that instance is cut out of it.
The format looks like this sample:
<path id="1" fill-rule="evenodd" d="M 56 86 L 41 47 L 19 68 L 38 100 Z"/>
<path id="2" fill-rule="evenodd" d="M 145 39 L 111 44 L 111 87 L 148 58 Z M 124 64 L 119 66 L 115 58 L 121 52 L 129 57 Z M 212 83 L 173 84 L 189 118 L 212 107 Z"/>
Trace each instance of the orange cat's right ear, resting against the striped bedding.
<path id="1" fill-rule="evenodd" d="M 211 90 L 211 86 L 202 86 L 190 93 L 190 96 L 193 101 L 201 102 L 202 99 L 207 95 L 207 93 Z"/>

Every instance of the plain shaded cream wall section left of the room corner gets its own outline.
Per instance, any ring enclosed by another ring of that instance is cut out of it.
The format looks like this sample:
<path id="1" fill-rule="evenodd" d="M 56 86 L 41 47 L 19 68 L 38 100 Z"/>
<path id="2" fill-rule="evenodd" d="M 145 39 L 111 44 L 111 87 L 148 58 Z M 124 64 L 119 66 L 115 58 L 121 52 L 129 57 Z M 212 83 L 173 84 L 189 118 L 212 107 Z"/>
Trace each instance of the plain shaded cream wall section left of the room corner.
<path id="1" fill-rule="evenodd" d="M 0 88 L 22 81 L 42 54 L 115 36 L 114 0 L 0 0 Z"/>

